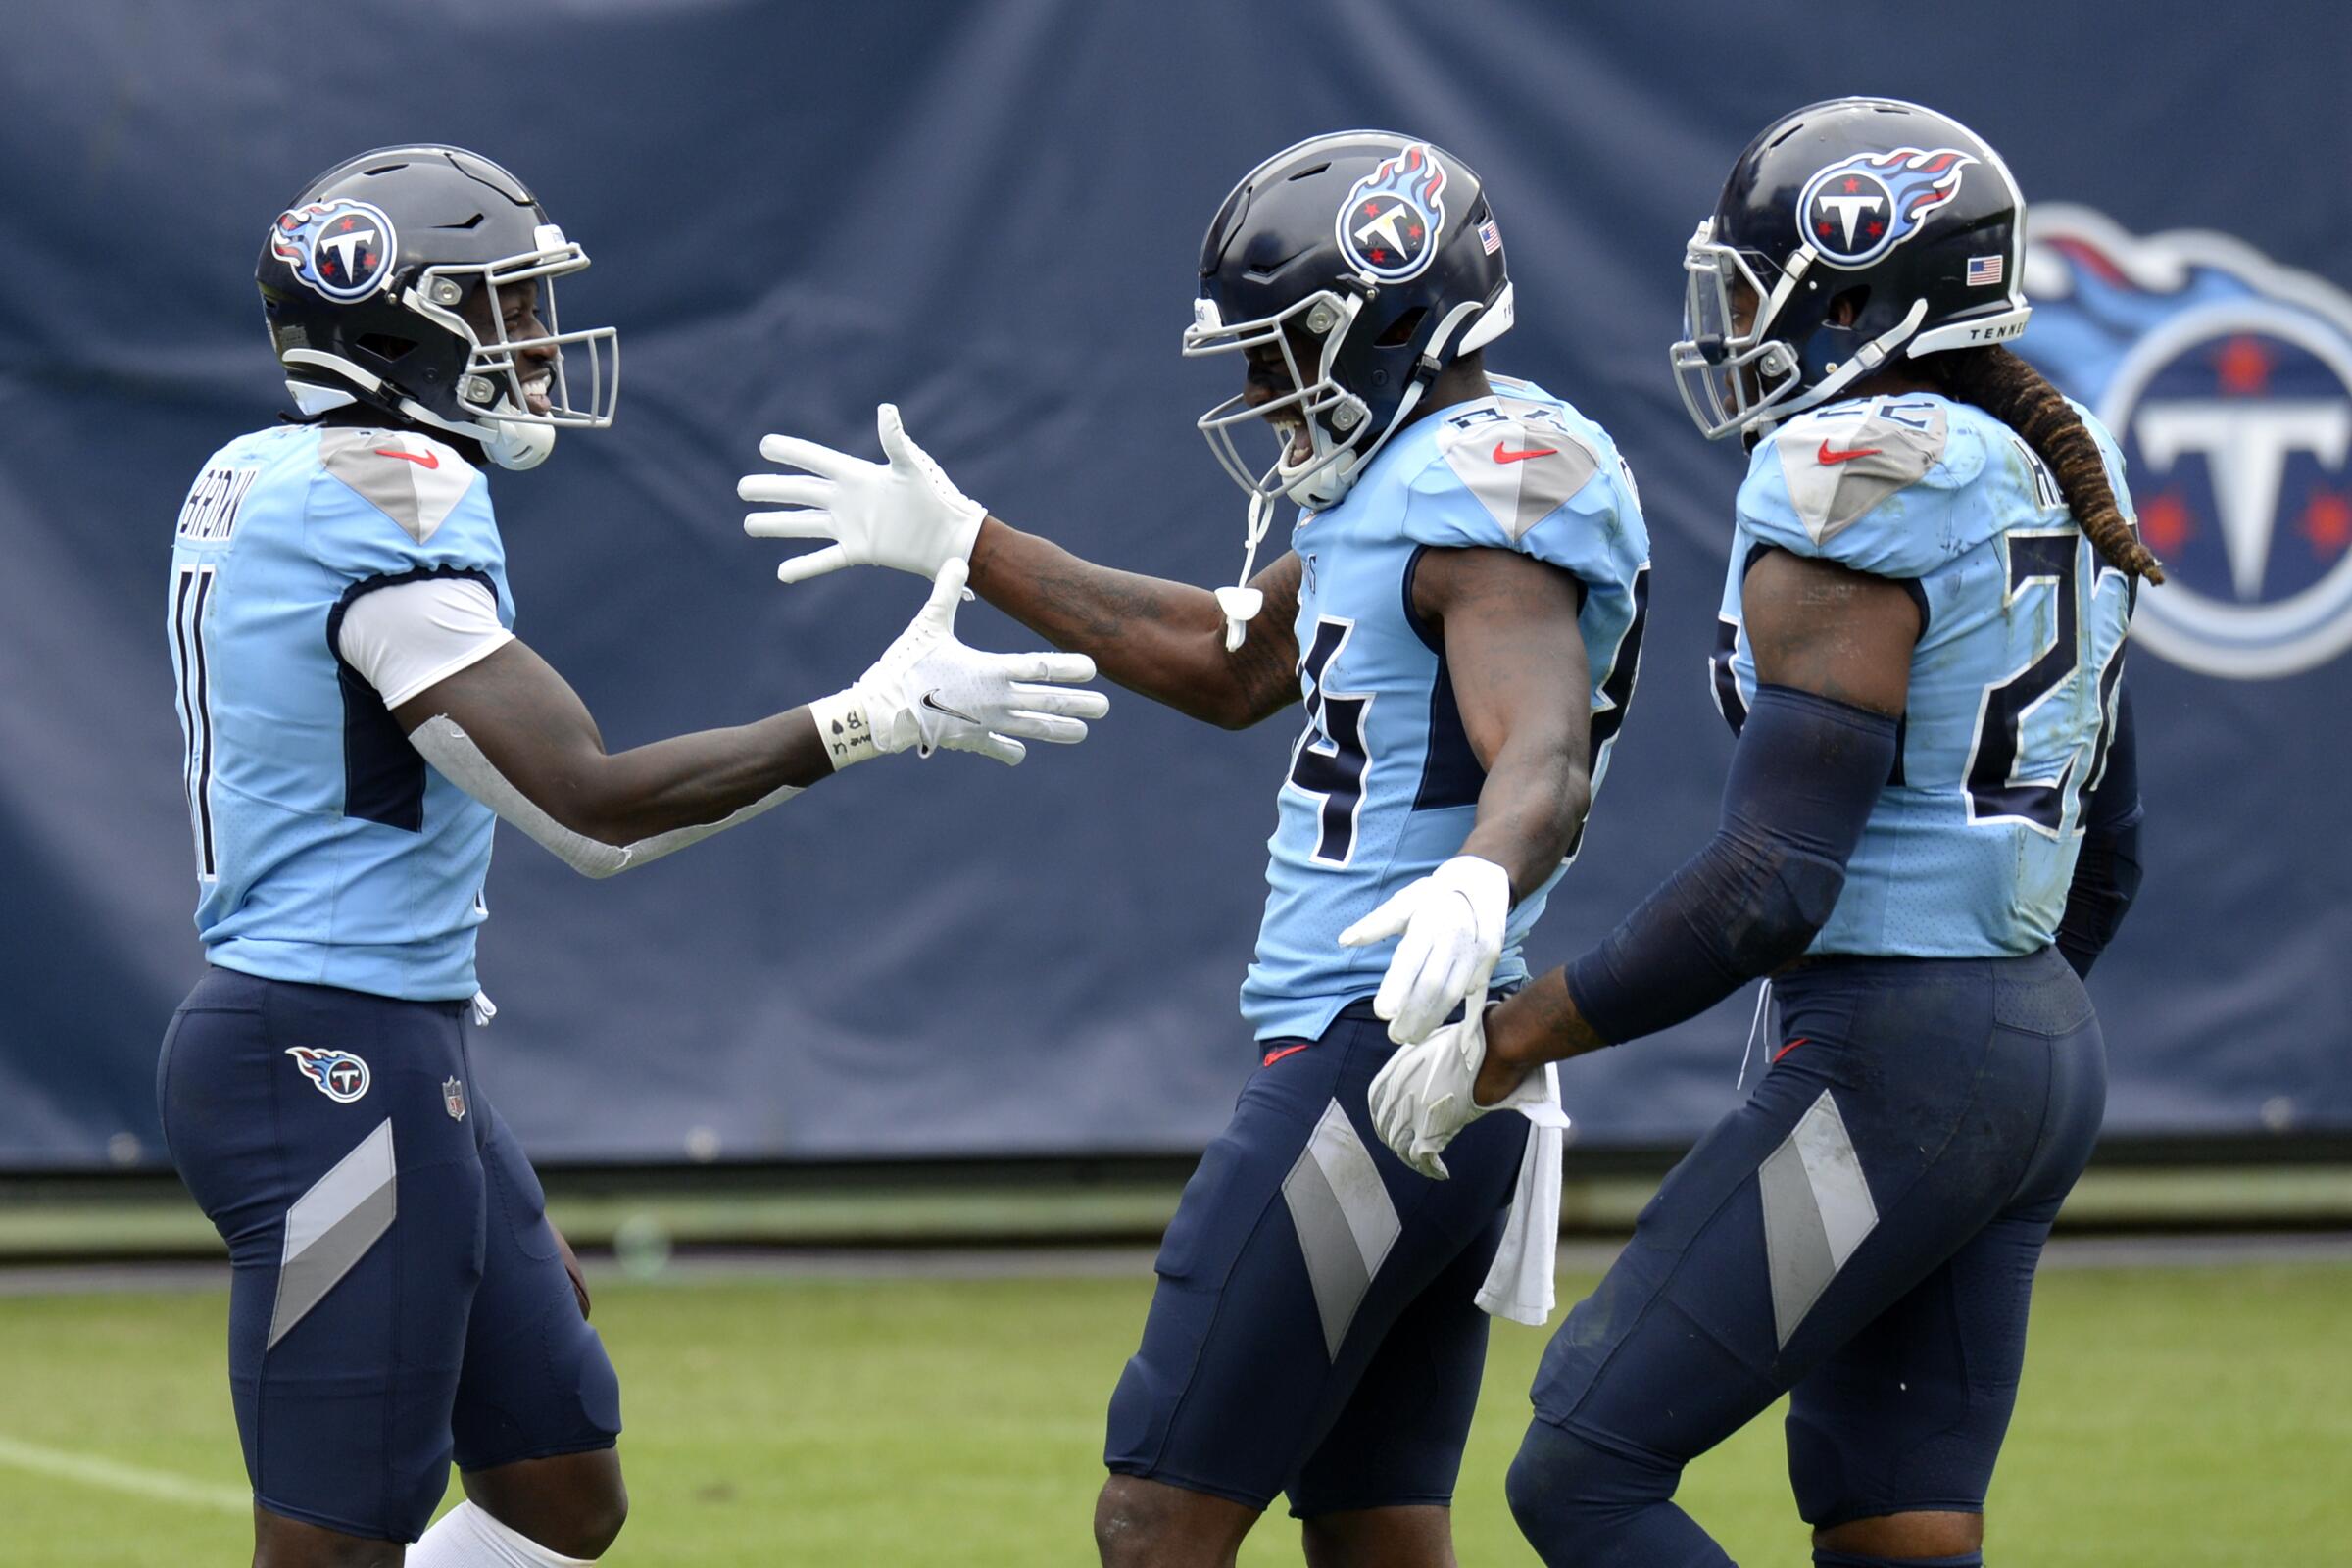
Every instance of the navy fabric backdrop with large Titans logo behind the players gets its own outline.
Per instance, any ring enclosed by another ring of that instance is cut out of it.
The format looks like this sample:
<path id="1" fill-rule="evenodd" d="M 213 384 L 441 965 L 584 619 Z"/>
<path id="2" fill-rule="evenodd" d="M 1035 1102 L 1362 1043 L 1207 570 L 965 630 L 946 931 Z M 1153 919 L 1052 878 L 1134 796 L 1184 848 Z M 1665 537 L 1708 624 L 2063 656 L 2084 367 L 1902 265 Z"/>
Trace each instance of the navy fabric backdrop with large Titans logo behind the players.
<path id="1" fill-rule="evenodd" d="M 1176 357 L 1200 230 L 1303 134 L 1454 148 L 1519 284 L 1491 360 L 1618 435 L 1656 538 L 1639 698 L 1536 943 L 1557 961 L 1712 825 L 1729 738 L 1703 661 L 1738 456 L 1665 376 L 1679 252 L 1738 146 L 1837 92 L 1947 108 L 2027 195 L 2079 205 L 2034 256 L 2025 350 L 2131 435 L 2180 567 L 2133 658 L 2147 891 L 2093 987 L 2110 1131 L 2352 1131 L 2352 56 L 2331 0 L 2260 26 L 2013 0 L 412 0 L 365 21 L 87 0 L 16 33 L 0 1166 L 162 1157 L 153 1053 L 200 966 L 165 552 L 205 454 L 280 407 L 252 259 L 315 169 L 470 143 L 595 254 L 564 320 L 621 327 L 621 423 L 496 496 L 522 632 L 640 743 L 830 691 L 913 611 L 896 574 L 779 588 L 731 494 L 771 428 L 870 449 L 882 397 L 997 512 L 1228 581 L 1242 508 L 1190 421 L 1232 388 Z M 985 609 L 964 628 L 1025 642 Z M 1077 752 L 861 769 L 604 884 L 501 830 L 485 1079 L 553 1159 L 1197 1147 L 1254 1060 L 1232 1001 L 1294 733 L 1129 696 Z M 1689 1138 L 1733 1098 L 1748 1009 L 1576 1065 L 1581 1135 Z"/>

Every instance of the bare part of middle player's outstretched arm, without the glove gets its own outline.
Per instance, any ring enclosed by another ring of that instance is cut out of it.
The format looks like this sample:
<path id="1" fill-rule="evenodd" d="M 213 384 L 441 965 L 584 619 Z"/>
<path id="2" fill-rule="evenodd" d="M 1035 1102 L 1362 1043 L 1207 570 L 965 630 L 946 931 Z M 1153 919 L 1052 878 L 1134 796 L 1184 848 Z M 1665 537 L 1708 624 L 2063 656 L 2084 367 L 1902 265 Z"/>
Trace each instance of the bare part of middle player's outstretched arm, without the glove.
<path id="1" fill-rule="evenodd" d="M 1105 679 L 1221 729 L 1247 729 L 1298 701 L 1298 557 L 1284 555 L 1251 585 L 1265 609 L 1228 654 L 1207 588 L 1096 567 L 997 517 L 971 548 L 976 595 L 1054 646 L 1094 656 Z"/>

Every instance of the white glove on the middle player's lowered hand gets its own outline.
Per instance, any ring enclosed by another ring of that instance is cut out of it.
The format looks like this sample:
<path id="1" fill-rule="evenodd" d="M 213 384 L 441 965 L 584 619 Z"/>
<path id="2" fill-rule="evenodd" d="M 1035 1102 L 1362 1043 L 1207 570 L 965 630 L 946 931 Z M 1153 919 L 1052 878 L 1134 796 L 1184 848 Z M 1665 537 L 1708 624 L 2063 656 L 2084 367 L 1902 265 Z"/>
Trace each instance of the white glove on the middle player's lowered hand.
<path id="1" fill-rule="evenodd" d="M 1508 919 L 1510 872 L 1454 856 L 1341 931 L 1338 945 L 1369 947 L 1402 933 L 1371 1011 L 1388 1018 L 1392 1041 L 1409 1046 L 1428 1039 L 1463 997 L 1486 992 Z"/>

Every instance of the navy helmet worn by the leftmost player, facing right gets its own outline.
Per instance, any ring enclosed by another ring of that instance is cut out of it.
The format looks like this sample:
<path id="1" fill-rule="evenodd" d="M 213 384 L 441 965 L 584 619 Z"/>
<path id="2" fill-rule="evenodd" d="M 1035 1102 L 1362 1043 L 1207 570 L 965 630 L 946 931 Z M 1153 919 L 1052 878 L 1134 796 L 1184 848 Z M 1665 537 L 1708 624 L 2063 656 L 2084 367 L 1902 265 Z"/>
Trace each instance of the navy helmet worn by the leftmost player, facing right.
<path id="1" fill-rule="evenodd" d="M 254 280 L 303 414 L 358 402 L 532 468 L 560 428 L 609 425 L 621 395 L 619 334 L 557 327 L 555 280 L 586 266 L 513 174 L 416 143 L 360 153 L 303 186 L 270 223 Z M 496 294 L 480 299 L 517 284 L 536 292 L 529 339 L 506 334 Z M 553 369 L 520 357 L 539 348 L 555 350 Z M 567 364 L 564 350 L 579 357 Z M 588 386 L 574 402 L 581 360 Z"/>

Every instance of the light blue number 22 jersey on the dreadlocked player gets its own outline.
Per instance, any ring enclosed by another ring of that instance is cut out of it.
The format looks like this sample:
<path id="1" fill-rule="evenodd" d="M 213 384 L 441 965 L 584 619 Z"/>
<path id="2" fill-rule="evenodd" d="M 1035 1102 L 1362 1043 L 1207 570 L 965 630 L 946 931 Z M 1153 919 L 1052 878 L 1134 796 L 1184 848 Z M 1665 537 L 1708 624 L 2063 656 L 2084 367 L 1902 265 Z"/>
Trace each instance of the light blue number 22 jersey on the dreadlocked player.
<path id="1" fill-rule="evenodd" d="M 2129 517 L 2124 458 L 2082 418 Z M 1740 487 L 1715 656 L 1733 731 L 1757 689 L 1740 585 L 1766 548 L 1896 578 L 1924 623 L 1896 773 L 1811 952 L 2044 947 L 2107 755 L 2131 578 L 2098 557 L 2049 468 L 1992 414 L 1926 393 L 1816 409 L 1757 444 Z"/>

